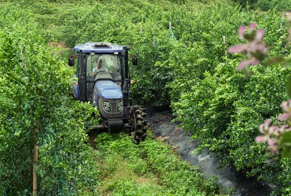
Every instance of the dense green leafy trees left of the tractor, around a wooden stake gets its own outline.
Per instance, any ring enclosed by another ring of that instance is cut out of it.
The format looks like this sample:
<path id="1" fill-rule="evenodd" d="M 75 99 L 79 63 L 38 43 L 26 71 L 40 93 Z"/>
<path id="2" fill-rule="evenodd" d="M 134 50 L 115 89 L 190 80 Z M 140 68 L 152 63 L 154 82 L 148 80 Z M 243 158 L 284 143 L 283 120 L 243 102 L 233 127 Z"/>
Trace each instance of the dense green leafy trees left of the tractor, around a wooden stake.
<path id="1" fill-rule="evenodd" d="M 0 194 L 32 193 L 35 142 L 39 195 L 96 189 L 99 172 L 84 143 L 97 123 L 94 108 L 69 97 L 71 70 L 49 53 L 34 24 L 7 25 L 0 30 Z"/>

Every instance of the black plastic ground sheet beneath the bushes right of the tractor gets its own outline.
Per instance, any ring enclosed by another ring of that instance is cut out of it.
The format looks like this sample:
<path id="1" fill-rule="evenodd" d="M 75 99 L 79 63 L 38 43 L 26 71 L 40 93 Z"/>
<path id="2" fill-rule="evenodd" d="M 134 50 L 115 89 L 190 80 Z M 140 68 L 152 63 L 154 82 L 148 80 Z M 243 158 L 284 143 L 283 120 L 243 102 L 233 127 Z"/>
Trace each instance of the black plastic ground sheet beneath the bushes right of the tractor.
<path id="1" fill-rule="evenodd" d="M 206 176 L 217 175 L 220 184 L 227 189 L 235 188 L 234 195 L 236 196 L 267 196 L 271 194 L 273 184 L 257 180 L 255 177 L 247 178 L 244 169 L 236 171 L 233 164 L 218 169 L 219 160 L 216 160 L 215 154 L 208 153 L 208 149 L 204 149 L 200 155 L 192 153 L 198 147 L 197 141 L 190 140 L 190 132 L 185 134 L 184 129 L 175 127 L 179 122 L 171 122 L 175 118 L 171 109 L 149 105 L 145 108 L 148 114 L 148 126 L 151 127 L 154 135 L 171 144 L 183 160 L 188 161 L 191 165 L 200 165 L 201 171 Z"/>

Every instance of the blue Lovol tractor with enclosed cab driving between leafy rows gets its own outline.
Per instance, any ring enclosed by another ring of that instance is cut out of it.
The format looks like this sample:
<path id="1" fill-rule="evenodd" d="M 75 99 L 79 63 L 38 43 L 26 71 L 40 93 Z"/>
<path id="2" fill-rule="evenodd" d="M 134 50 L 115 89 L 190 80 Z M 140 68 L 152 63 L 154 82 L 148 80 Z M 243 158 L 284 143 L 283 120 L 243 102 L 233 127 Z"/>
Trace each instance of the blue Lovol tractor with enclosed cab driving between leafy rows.
<path id="1" fill-rule="evenodd" d="M 74 66 L 76 59 L 74 99 L 90 101 L 99 110 L 101 122 L 94 129 L 108 133 L 126 129 L 139 141 L 147 135 L 147 120 L 145 109 L 134 105 L 130 98 L 134 80 L 130 80 L 128 57 L 133 65 L 137 65 L 137 58 L 128 54 L 129 49 L 111 43 L 79 44 L 74 47 L 69 66 Z"/>

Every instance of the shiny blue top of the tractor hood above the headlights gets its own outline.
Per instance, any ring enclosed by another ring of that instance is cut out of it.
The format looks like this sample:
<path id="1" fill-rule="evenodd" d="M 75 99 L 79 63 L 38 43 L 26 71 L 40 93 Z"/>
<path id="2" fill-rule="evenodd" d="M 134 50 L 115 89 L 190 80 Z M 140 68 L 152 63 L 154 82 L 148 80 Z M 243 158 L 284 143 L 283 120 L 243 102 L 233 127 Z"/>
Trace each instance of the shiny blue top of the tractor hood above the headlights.
<path id="1" fill-rule="evenodd" d="M 98 95 L 103 99 L 121 99 L 123 94 L 117 84 L 109 80 L 96 82 Z"/>

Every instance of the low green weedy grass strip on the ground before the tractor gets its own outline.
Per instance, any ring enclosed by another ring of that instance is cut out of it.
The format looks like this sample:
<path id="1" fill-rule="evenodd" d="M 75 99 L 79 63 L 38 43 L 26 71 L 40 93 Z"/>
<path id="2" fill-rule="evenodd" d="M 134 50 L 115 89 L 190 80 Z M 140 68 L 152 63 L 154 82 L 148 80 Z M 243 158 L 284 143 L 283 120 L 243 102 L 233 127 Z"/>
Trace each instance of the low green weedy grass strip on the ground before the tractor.
<path id="1" fill-rule="evenodd" d="M 205 178 L 198 167 L 183 161 L 151 133 L 140 144 L 125 134 L 102 133 L 93 145 L 103 171 L 101 195 L 225 195 L 217 177 Z M 84 190 L 81 195 L 92 194 Z"/>

